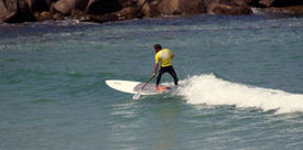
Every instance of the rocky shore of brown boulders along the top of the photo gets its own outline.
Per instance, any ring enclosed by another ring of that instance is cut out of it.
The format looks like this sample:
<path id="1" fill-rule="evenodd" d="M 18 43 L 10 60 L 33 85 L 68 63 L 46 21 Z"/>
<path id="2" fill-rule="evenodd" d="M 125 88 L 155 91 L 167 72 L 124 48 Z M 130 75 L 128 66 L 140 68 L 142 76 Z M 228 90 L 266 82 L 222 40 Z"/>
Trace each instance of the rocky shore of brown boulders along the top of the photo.
<path id="1" fill-rule="evenodd" d="M 0 0 L 0 22 L 76 19 L 104 23 L 160 15 L 303 14 L 302 0 Z"/>

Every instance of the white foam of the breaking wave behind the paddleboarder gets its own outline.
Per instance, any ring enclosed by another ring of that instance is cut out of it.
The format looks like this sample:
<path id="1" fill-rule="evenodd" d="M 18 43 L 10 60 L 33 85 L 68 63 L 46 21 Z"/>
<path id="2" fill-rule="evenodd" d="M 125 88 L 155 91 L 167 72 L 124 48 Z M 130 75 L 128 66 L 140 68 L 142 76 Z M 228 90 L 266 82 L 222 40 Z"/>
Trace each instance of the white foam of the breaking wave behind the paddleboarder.
<path id="1" fill-rule="evenodd" d="M 264 111 L 303 111 L 303 95 L 278 89 L 253 87 L 217 78 L 215 75 L 192 76 L 177 89 L 188 104 L 235 105 L 257 107 Z"/>

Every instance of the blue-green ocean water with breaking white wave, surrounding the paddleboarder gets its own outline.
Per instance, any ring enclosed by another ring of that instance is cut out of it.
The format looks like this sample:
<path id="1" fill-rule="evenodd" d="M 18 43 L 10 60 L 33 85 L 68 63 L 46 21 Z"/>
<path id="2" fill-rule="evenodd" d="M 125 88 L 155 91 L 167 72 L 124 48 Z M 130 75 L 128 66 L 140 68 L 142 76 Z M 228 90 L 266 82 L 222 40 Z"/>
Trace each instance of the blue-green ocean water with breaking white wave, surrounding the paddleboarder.
<path id="1" fill-rule="evenodd" d="M 105 84 L 148 81 L 156 43 L 176 90 Z M 302 150 L 302 17 L 0 24 L 1 150 Z"/>

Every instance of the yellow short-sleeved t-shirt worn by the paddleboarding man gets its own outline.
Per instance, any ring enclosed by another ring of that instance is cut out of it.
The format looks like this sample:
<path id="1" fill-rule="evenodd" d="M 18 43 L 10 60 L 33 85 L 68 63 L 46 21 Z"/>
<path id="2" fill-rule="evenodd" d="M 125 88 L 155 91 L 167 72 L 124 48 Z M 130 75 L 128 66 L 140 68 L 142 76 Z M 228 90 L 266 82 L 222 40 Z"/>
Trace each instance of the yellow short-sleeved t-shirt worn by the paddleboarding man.
<path id="1" fill-rule="evenodd" d="M 172 66 L 172 54 L 169 49 L 159 51 L 154 56 L 155 63 L 158 64 L 160 61 L 162 67 Z"/>

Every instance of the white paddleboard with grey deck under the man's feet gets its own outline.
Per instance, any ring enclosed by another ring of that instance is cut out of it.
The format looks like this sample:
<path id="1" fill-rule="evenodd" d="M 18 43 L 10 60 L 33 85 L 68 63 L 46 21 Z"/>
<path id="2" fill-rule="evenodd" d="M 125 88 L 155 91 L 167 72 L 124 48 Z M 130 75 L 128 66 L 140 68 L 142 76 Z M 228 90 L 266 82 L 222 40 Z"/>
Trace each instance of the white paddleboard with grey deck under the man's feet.
<path id="1" fill-rule="evenodd" d="M 108 79 L 106 81 L 106 84 L 119 92 L 123 93 L 129 93 L 129 94 L 136 94 L 138 93 L 142 86 L 144 86 L 145 83 L 140 83 L 140 82 L 132 82 L 132 81 L 115 81 L 115 79 Z M 162 87 L 166 88 L 163 90 L 156 90 L 155 84 L 149 83 L 143 90 L 141 90 L 141 95 L 155 95 L 155 94 L 162 94 L 165 92 L 169 92 L 173 89 L 170 86 L 163 86 Z"/>

